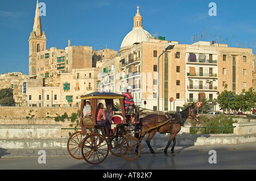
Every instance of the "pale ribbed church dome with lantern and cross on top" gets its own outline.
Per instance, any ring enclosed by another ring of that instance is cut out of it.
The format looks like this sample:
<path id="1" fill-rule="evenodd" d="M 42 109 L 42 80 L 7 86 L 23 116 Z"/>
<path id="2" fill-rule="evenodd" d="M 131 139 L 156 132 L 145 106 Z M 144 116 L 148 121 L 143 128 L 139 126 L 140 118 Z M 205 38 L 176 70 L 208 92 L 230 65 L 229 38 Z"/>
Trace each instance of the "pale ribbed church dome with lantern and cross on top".
<path id="1" fill-rule="evenodd" d="M 139 6 L 137 7 L 137 14 L 134 16 L 134 27 L 122 41 L 119 52 L 133 47 L 134 43 L 141 43 L 142 41 L 148 41 L 151 36 L 149 32 L 143 29 L 142 16 L 139 14 Z"/>

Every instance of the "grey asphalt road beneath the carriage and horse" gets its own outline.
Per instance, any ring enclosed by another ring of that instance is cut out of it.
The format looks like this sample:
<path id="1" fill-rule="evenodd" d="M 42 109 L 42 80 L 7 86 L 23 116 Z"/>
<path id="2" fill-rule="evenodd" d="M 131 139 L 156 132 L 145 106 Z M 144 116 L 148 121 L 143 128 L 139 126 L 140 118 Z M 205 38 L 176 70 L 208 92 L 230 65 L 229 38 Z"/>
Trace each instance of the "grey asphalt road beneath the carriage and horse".
<path id="1" fill-rule="evenodd" d="M 209 163 L 216 162 L 216 163 Z M 175 157 L 159 153 L 141 154 L 135 161 L 126 161 L 122 157 L 109 155 L 104 162 L 91 165 L 84 159 L 77 160 L 71 157 L 46 157 L 46 163 L 39 163 L 38 158 L 1 158 L 0 170 L 233 170 L 256 169 L 256 149 L 219 150 L 216 153 L 209 151 L 184 151 L 176 153 Z"/>

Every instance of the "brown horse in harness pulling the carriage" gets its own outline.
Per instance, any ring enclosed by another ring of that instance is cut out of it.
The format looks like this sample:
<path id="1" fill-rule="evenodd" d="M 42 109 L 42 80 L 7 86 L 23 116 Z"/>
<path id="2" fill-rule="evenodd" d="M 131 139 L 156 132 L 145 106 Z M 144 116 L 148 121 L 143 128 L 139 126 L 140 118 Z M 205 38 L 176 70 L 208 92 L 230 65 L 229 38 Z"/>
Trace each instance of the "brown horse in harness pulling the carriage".
<path id="1" fill-rule="evenodd" d="M 171 117 L 168 118 L 166 115 L 151 114 L 143 117 L 143 119 L 141 120 L 141 125 L 140 125 L 141 136 L 139 137 L 139 141 L 142 141 L 143 137 L 146 135 L 146 133 L 148 133 L 146 144 L 152 154 L 155 154 L 155 151 L 152 149 L 150 145 L 150 141 L 154 137 L 156 132 L 171 133 L 171 137 L 168 141 L 168 144 L 164 149 L 164 154 L 167 155 L 167 149 L 170 146 L 171 142 L 174 141 L 174 144 L 172 145 L 172 149 L 171 149 L 171 154 L 174 155 L 174 147 L 176 144 L 175 137 L 176 137 L 176 134 L 180 132 L 181 125 L 184 124 L 184 122 L 188 119 L 188 117 L 191 117 L 192 119 L 196 119 L 197 121 L 199 120 L 199 116 L 197 115 L 196 110 L 193 106 L 189 106 L 181 112 L 170 113 L 169 116 L 170 115 Z M 170 121 L 167 121 L 167 120 L 170 120 Z M 163 124 L 166 121 L 167 123 Z M 160 124 L 163 124 L 163 125 L 160 125 Z"/>

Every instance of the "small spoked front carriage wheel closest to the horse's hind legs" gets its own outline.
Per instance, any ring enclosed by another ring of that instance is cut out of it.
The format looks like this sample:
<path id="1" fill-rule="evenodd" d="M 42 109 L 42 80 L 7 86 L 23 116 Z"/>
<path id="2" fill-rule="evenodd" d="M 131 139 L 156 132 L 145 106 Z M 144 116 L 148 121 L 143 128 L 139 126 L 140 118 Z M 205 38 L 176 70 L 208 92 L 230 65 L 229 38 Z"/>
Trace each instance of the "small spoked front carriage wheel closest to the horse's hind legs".
<path id="1" fill-rule="evenodd" d="M 138 146 L 138 153 L 136 153 L 136 148 Z M 123 158 L 127 161 L 134 161 L 141 154 L 141 143 L 137 138 L 128 137 L 123 140 L 120 145 L 120 152 Z"/>

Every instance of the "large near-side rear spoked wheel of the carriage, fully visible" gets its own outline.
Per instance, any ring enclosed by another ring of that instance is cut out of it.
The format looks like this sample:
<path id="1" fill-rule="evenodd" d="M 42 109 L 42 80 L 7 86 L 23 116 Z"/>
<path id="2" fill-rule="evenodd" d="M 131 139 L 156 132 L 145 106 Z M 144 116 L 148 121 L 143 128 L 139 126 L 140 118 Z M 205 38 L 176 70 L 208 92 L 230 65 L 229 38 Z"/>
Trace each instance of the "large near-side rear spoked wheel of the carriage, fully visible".
<path id="1" fill-rule="evenodd" d="M 109 154 L 108 140 L 102 134 L 89 134 L 82 141 L 81 147 L 82 157 L 88 163 L 101 163 Z"/>

